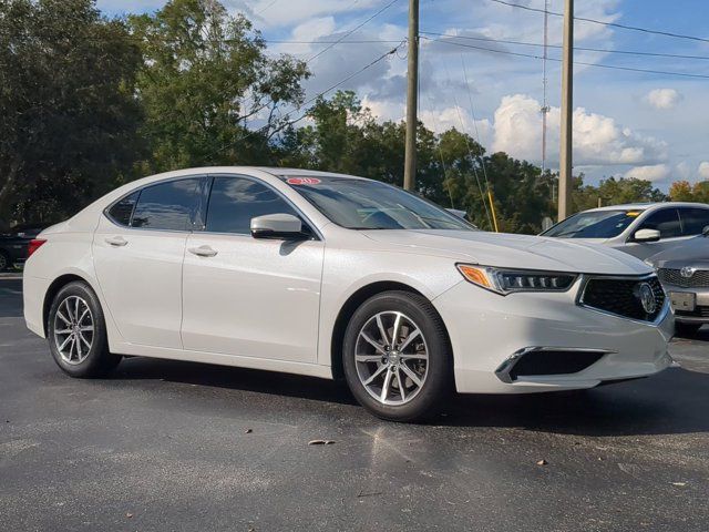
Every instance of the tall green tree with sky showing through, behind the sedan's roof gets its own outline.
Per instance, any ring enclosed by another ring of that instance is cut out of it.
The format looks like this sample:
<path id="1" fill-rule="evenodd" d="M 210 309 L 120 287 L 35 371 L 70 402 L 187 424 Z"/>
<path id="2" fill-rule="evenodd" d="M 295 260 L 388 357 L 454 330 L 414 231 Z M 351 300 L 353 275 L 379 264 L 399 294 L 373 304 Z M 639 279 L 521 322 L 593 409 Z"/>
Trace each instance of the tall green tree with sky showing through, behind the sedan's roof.
<path id="1" fill-rule="evenodd" d="M 152 150 L 142 173 L 273 162 L 268 140 L 287 123 L 280 109 L 302 103 L 302 61 L 268 58 L 251 23 L 216 0 L 172 0 L 130 23 L 143 48 L 138 95 Z"/>

